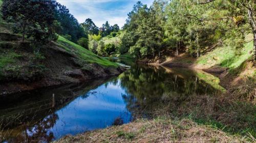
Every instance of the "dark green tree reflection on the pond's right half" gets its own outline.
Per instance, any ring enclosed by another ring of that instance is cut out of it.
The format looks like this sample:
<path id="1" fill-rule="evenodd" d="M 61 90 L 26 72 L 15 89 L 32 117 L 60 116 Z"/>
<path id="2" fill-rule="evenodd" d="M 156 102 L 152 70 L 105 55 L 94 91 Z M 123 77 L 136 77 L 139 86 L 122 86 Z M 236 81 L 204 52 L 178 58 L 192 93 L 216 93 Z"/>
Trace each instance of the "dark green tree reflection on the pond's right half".
<path id="1" fill-rule="evenodd" d="M 202 74 L 209 81 L 199 76 Z M 222 89 L 217 77 L 189 69 L 137 66 L 120 75 L 119 80 L 127 93 L 122 95 L 127 108 L 138 117 L 148 116 L 160 107 L 169 113 L 171 107 L 182 104 L 191 95 L 214 95 Z"/>

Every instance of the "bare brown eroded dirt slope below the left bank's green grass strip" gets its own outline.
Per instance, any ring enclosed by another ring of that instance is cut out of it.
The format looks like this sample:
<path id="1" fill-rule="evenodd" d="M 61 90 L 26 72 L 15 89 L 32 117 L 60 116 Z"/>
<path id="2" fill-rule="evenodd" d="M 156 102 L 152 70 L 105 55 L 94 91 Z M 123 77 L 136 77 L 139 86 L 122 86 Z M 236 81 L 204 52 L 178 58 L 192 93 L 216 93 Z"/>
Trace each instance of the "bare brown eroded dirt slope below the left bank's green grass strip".
<path id="1" fill-rule="evenodd" d="M 20 48 L 14 45 L 12 49 L 6 49 L 7 54 L 15 52 L 21 56 L 15 65 L 9 65 L 10 70 L 6 70 L 0 78 L 0 95 L 110 77 L 125 70 L 122 67 L 103 67 L 84 62 L 76 54 L 63 50 L 55 43 L 41 50 L 45 56 L 41 60 L 33 60 L 35 55 L 31 49 Z"/>

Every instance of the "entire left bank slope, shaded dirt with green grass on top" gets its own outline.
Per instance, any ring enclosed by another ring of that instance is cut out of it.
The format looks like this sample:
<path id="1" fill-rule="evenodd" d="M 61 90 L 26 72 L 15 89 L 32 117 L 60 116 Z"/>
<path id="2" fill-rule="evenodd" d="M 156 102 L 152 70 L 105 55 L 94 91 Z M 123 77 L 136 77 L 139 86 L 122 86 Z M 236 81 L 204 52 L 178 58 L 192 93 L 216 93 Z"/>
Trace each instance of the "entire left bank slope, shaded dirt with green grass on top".
<path id="1" fill-rule="evenodd" d="M 2 2 L 2 1 L 1 1 Z M 0 18 L 0 95 L 120 74 L 118 64 L 59 36 L 39 52 Z"/>

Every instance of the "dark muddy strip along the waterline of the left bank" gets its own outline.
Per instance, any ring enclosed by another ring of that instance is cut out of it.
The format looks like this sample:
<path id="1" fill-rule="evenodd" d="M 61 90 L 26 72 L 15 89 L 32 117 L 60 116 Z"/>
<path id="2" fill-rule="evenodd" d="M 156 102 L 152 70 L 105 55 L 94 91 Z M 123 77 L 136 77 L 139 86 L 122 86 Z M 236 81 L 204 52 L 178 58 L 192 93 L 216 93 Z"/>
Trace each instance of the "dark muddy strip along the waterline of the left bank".
<path id="1" fill-rule="evenodd" d="M 79 70 L 72 71 L 66 77 L 62 79 L 54 79 L 51 77 L 44 77 L 40 80 L 33 82 L 30 81 L 5 81 L 0 82 L 0 96 L 8 96 L 10 94 L 32 91 L 42 88 L 59 87 L 65 84 L 89 82 L 91 80 L 97 80 L 100 78 L 111 78 L 117 76 L 125 71 L 125 68 L 119 67 L 117 69 L 111 69 L 109 72 L 101 72 L 94 75 L 86 75 Z M 74 73 L 77 72 L 77 73 Z"/>

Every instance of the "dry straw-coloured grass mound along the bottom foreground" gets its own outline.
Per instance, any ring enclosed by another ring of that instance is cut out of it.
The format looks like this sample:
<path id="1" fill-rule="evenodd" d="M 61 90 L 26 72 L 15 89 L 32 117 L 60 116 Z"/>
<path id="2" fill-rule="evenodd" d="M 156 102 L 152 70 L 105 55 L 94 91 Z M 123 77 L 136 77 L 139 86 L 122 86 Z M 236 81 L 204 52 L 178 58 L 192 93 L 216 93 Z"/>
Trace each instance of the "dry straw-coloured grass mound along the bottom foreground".
<path id="1" fill-rule="evenodd" d="M 168 118 L 137 120 L 133 123 L 65 136 L 55 143 L 66 142 L 249 142 L 191 120 L 171 121 Z M 256 141 L 251 138 L 252 141 Z"/>

